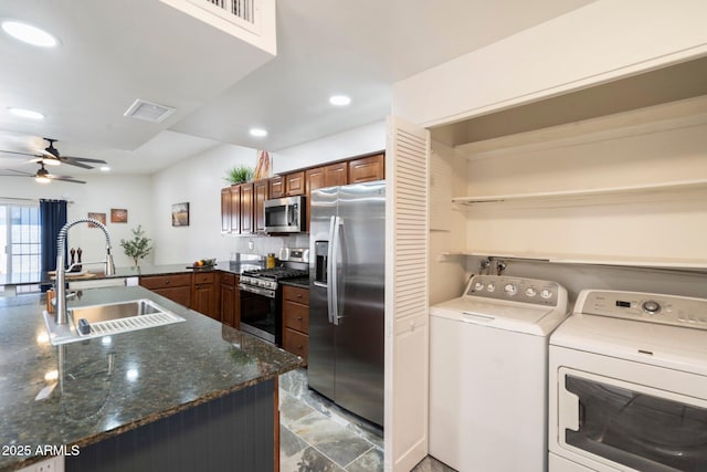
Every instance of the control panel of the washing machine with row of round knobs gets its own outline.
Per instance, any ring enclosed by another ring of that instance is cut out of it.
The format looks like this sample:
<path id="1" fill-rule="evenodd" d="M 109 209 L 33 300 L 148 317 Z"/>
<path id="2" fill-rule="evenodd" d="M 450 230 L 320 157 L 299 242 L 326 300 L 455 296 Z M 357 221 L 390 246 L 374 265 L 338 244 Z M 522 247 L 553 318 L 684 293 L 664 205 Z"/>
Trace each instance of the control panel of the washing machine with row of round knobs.
<path id="1" fill-rule="evenodd" d="M 475 275 L 464 294 L 495 300 L 557 306 L 564 289 L 556 282 L 505 275 Z"/>

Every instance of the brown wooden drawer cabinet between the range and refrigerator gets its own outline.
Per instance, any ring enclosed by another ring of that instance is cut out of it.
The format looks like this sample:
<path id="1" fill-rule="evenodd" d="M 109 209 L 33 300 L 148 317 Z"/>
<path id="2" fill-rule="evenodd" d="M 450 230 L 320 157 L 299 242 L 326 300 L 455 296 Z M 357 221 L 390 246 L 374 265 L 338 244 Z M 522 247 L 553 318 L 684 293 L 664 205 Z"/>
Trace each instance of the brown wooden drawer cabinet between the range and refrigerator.
<path id="1" fill-rule="evenodd" d="M 283 285 L 283 348 L 305 359 L 309 353 L 309 290 Z"/>

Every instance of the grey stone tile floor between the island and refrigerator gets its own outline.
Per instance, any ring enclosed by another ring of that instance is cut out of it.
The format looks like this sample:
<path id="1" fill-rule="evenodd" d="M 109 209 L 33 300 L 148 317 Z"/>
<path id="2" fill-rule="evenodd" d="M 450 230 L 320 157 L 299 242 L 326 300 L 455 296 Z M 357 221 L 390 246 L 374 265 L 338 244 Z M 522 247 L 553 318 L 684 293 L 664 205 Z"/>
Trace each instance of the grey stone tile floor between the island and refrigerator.
<path id="1" fill-rule="evenodd" d="M 279 377 L 281 472 L 382 472 L 382 430 L 307 388 L 306 370 Z M 453 472 L 426 458 L 414 472 Z"/>

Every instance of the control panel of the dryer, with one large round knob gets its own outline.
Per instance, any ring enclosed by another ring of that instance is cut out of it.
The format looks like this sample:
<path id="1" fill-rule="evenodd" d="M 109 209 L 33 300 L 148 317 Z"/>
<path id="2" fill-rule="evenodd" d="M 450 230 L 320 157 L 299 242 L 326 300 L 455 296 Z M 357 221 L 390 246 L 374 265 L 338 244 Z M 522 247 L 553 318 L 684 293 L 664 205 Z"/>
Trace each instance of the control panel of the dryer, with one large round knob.
<path id="1" fill-rule="evenodd" d="M 687 296 L 589 290 L 574 313 L 707 329 L 707 300 Z"/>

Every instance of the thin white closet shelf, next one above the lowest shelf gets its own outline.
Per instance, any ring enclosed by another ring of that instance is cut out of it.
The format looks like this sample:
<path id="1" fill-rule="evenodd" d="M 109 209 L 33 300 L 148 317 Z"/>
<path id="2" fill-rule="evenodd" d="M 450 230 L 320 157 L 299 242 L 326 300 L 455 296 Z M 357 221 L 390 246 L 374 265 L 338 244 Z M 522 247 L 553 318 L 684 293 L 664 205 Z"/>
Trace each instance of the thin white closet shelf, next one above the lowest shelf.
<path id="1" fill-rule="evenodd" d="M 551 202 L 551 201 L 567 201 L 567 202 L 589 202 L 595 201 L 598 198 L 603 197 L 618 197 L 618 196 L 640 196 L 640 195 L 657 195 L 666 192 L 685 192 L 692 190 L 707 190 L 707 180 L 680 180 L 661 183 L 648 183 L 637 186 L 625 187 L 608 187 L 599 189 L 584 189 L 584 190 L 562 190 L 562 191 L 547 191 L 547 192 L 530 192 L 530 193 L 506 193 L 506 195 L 489 195 L 489 196 L 475 196 L 475 197 L 455 197 L 452 202 L 473 206 L 482 203 L 503 203 L 503 202 Z"/>

